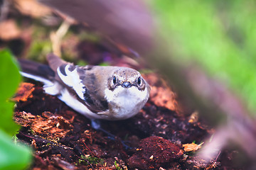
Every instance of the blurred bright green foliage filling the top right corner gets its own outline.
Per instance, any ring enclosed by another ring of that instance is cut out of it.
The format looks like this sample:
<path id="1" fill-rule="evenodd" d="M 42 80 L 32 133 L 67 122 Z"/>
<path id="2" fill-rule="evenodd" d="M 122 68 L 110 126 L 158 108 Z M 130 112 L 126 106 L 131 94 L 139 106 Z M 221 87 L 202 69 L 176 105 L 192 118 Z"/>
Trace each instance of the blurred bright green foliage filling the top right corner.
<path id="1" fill-rule="evenodd" d="M 172 62 L 198 64 L 256 111 L 256 1 L 151 1 L 151 8 Z"/>

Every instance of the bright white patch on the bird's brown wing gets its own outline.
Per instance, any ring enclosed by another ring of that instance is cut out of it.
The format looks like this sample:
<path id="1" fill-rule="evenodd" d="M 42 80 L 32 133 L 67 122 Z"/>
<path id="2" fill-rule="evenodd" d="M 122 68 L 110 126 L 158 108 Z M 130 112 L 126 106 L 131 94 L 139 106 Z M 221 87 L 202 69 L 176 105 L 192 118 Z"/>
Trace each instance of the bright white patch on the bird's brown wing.
<path id="1" fill-rule="evenodd" d="M 69 67 L 70 65 L 65 66 L 65 73 L 67 74 L 67 76 L 63 75 L 60 72 L 60 67 L 58 67 L 58 76 L 65 84 L 72 87 L 75 90 L 75 93 L 77 93 L 82 100 L 85 100 L 84 94 L 86 89 L 85 86 L 82 84 L 82 80 L 79 77 L 77 68 L 73 69 L 73 71 L 70 72 Z"/>

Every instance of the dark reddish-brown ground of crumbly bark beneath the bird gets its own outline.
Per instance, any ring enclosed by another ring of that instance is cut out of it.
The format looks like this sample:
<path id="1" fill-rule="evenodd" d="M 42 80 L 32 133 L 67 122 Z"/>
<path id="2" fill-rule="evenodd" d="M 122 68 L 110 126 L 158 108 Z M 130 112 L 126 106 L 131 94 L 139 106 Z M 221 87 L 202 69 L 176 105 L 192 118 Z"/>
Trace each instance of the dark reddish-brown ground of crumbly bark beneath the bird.
<path id="1" fill-rule="evenodd" d="M 220 159 L 227 154 L 222 152 L 208 164 L 194 159 L 214 130 L 196 113 L 184 114 L 176 94 L 157 74 L 144 78 L 151 94 L 142 111 L 128 120 L 102 121 L 102 128 L 114 138 L 94 130 L 89 119 L 45 94 L 41 84 L 21 84 L 15 120 L 22 127 L 18 139 L 34 149 L 30 169 L 233 169 L 232 152 Z"/>

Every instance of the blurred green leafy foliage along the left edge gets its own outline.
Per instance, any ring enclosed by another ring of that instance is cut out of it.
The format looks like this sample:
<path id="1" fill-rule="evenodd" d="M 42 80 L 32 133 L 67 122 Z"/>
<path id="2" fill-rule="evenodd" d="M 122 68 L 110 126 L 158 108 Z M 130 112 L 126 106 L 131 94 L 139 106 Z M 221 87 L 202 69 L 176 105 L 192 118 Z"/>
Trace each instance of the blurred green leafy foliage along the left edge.
<path id="1" fill-rule="evenodd" d="M 18 130 L 13 120 L 14 103 L 8 98 L 14 95 L 21 75 L 8 50 L 0 51 L 0 169 L 24 169 L 31 162 L 31 151 L 11 140 Z"/>

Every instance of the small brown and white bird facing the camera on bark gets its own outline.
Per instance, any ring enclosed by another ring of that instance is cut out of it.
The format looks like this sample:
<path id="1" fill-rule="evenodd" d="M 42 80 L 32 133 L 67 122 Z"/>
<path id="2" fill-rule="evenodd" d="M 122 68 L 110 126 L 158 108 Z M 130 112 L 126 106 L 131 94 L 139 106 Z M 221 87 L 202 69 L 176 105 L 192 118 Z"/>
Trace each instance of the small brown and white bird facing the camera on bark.
<path id="1" fill-rule="evenodd" d="M 135 69 L 76 66 L 50 54 L 48 65 L 19 60 L 23 77 L 43 82 L 46 94 L 57 96 L 92 120 L 124 120 L 136 115 L 149 99 L 150 86 Z"/>

